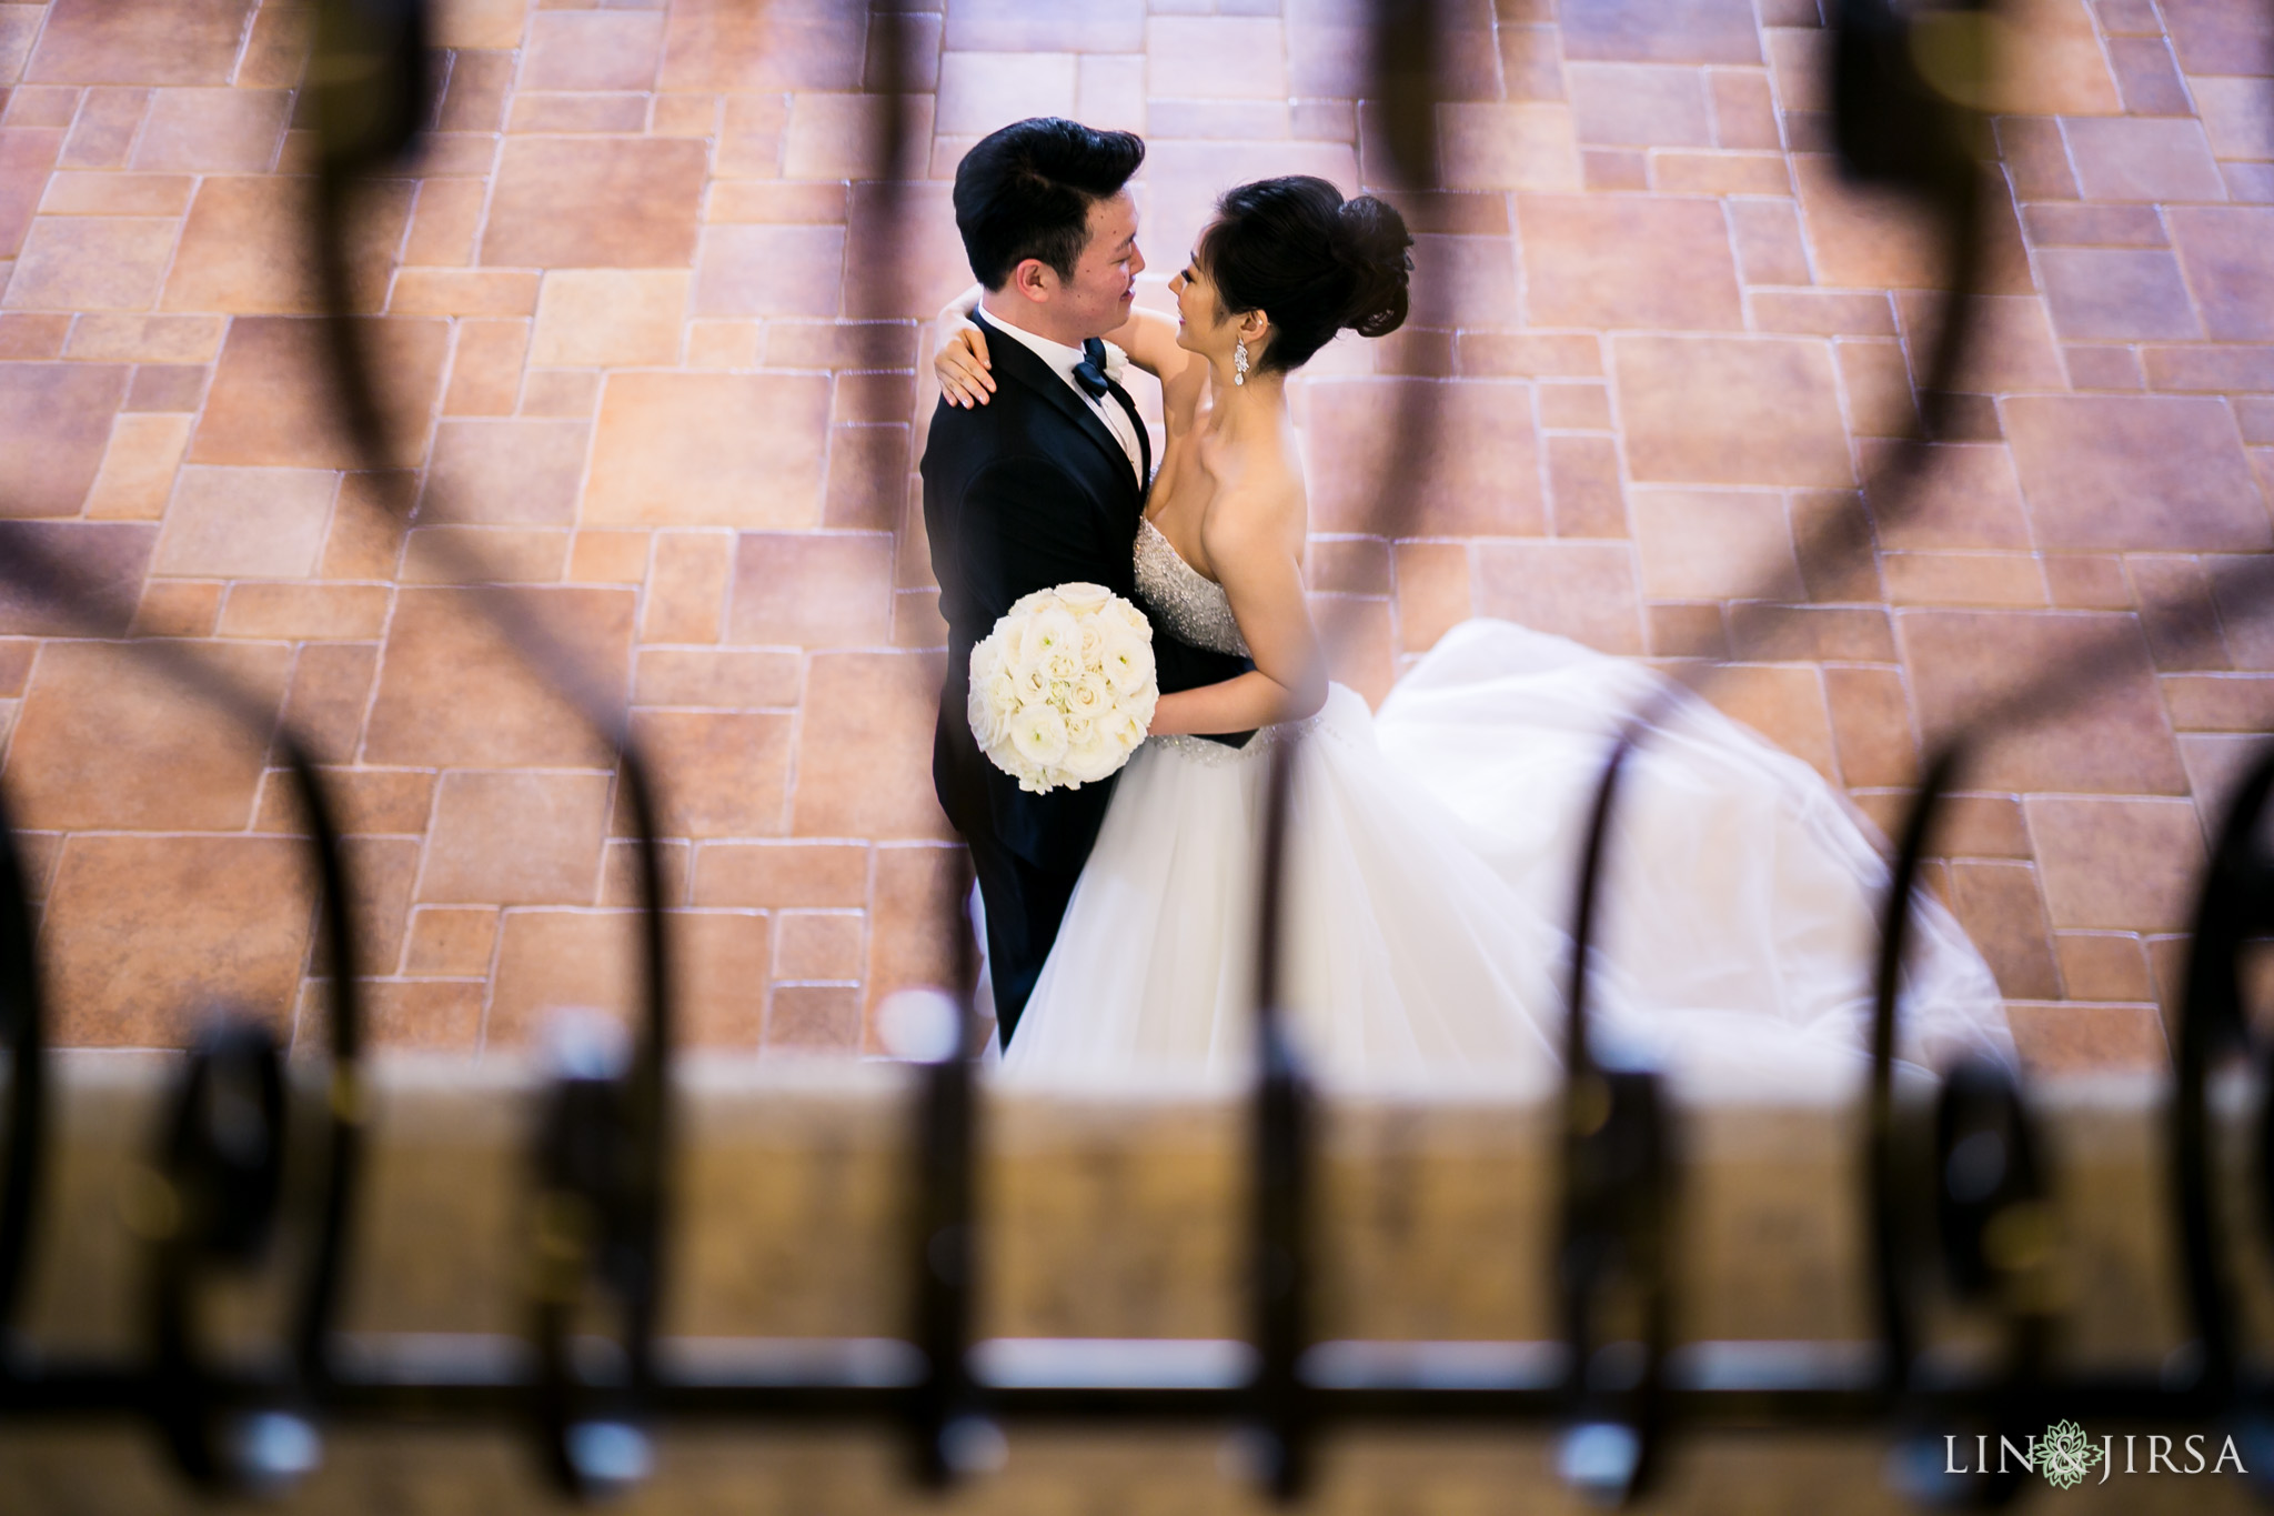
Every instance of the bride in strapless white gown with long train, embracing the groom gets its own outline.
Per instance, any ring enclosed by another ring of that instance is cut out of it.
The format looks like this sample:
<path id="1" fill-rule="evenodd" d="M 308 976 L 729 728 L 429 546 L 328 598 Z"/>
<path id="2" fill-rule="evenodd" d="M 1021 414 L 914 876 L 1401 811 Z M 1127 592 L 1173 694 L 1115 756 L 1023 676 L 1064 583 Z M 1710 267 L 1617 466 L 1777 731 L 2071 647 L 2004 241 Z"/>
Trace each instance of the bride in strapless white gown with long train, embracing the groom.
<path id="1" fill-rule="evenodd" d="M 1330 1082 L 1535 1082 L 1558 1066 L 1571 889 L 1592 789 L 1642 664 L 1505 620 L 1453 627 L 1380 714 L 1323 675 L 1287 375 L 1339 330 L 1383 336 L 1408 248 L 1380 200 L 1244 184 L 1169 289 L 1107 336 L 1160 380 L 1167 448 L 1132 543 L 1155 639 L 1253 659 L 1160 698 L 1003 1055 L 1012 1080 L 1235 1075 L 1253 1055 L 1258 841 L 1298 741 L 1283 984 Z M 935 357 L 985 405 L 987 339 Z M 1887 871 L 1844 798 L 1696 698 L 1646 734 L 1610 834 L 1592 1005 L 1608 1046 L 1724 1080 L 1858 1068 Z M 1262 727 L 1244 748 L 1210 732 Z M 1926 902 L 1906 1048 L 2012 1057 L 1997 984 Z"/>

